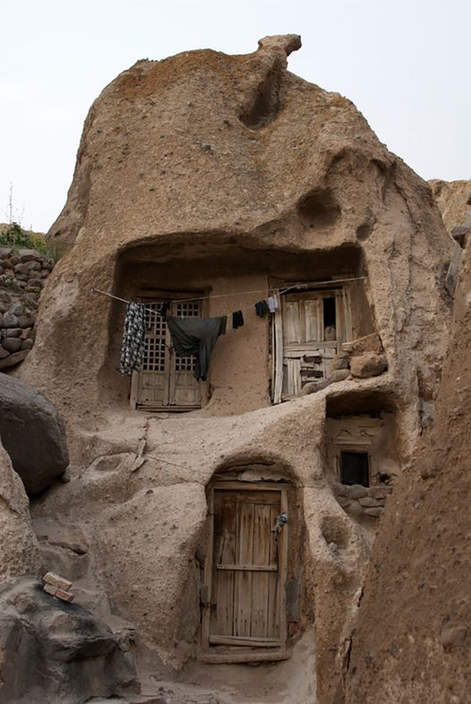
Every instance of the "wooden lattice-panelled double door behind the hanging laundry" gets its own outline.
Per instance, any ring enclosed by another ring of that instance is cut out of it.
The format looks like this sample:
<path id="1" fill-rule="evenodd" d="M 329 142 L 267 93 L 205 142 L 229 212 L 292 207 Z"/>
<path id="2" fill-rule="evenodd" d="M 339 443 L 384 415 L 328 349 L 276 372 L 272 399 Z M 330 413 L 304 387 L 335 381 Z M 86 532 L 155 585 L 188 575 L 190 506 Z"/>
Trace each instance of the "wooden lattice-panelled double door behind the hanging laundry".
<path id="1" fill-rule="evenodd" d="M 163 303 L 163 300 L 146 303 L 144 359 L 141 370 L 133 373 L 132 405 L 155 410 L 200 408 L 200 387 L 193 376 L 195 359 L 176 356 L 166 319 L 158 313 Z M 174 300 L 168 313 L 200 317 L 201 301 Z"/>

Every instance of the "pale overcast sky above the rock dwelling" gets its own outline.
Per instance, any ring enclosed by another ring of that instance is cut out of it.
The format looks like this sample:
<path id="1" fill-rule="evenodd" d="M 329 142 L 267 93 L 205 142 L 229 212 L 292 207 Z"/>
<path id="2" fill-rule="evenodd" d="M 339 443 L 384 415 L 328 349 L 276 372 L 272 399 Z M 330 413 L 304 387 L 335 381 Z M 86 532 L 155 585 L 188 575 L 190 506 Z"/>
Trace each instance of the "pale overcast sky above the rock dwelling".
<path id="1" fill-rule="evenodd" d="M 355 105 L 424 178 L 471 178 L 469 0 L 0 0 L 0 221 L 46 231 L 83 120 L 140 58 L 245 54 L 301 34 L 289 69 Z"/>

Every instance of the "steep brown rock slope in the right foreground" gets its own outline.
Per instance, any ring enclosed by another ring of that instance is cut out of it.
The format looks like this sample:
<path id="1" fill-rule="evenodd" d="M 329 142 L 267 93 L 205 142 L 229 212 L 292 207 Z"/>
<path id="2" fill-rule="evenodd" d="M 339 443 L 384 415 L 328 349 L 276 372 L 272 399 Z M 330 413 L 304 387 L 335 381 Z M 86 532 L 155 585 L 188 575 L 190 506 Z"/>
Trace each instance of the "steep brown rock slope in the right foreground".
<path id="1" fill-rule="evenodd" d="M 346 672 L 347 704 L 461 704 L 471 689 L 471 246 L 435 422 L 388 500 Z"/>

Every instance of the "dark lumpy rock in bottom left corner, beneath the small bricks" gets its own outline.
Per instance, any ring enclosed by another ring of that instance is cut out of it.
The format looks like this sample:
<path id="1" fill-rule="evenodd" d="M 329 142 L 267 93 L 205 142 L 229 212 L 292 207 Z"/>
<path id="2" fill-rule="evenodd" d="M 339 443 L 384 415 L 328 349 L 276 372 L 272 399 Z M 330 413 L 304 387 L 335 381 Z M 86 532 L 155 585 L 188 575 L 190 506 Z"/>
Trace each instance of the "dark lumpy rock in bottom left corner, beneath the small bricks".
<path id="1" fill-rule="evenodd" d="M 135 684 L 133 659 L 107 626 L 35 580 L 0 587 L 0 700 L 81 704 Z"/>

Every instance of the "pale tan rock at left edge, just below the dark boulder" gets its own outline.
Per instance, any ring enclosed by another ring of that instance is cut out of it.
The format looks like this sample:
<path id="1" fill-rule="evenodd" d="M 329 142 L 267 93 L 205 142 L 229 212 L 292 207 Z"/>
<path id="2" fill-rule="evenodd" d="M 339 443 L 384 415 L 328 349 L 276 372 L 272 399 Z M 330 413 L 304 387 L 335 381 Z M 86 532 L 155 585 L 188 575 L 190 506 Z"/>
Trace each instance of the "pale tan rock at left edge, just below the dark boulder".
<path id="1" fill-rule="evenodd" d="M 0 442 L 0 582 L 39 569 L 39 548 L 31 528 L 30 502 Z"/>

